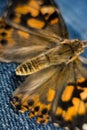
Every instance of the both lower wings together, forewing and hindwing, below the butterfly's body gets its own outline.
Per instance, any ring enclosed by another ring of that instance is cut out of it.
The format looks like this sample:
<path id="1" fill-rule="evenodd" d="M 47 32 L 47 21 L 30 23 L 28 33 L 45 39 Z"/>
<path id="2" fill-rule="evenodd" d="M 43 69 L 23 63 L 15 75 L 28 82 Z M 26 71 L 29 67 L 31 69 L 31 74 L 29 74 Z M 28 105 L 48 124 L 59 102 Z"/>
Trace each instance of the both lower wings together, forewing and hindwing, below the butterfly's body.
<path id="1" fill-rule="evenodd" d="M 84 130 L 87 125 L 87 70 L 77 59 L 67 66 L 39 71 L 16 89 L 11 102 L 22 112 L 30 110 L 30 118 L 38 116 L 38 123 L 47 123 L 51 118 L 52 122 L 70 130 Z"/>

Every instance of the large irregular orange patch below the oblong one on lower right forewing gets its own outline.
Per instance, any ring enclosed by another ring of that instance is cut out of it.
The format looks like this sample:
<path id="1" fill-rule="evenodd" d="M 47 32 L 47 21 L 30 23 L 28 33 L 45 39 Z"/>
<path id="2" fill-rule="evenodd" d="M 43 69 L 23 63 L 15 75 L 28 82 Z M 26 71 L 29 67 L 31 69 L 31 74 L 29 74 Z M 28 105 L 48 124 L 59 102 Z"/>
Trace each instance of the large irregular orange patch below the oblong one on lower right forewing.
<path id="1" fill-rule="evenodd" d="M 76 115 L 84 115 L 86 113 L 86 106 L 83 101 L 79 98 L 73 98 L 72 106 L 68 107 L 67 110 L 62 109 L 62 107 L 58 107 L 56 110 L 56 115 L 58 117 L 62 117 L 65 121 L 73 121 Z"/>

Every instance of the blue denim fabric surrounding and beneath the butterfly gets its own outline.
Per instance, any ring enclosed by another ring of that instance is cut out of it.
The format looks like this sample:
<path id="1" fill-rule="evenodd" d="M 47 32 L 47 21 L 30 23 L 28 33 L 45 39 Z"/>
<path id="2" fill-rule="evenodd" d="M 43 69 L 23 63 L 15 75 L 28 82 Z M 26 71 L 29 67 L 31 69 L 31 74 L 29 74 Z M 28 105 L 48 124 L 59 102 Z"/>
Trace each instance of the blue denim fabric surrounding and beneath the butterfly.
<path id="1" fill-rule="evenodd" d="M 87 1 L 86 0 L 56 0 L 66 21 L 71 38 L 87 39 Z M 7 0 L 0 0 L 0 15 L 2 15 Z M 86 52 L 84 56 L 87 56 Z M 15 111 L 10 104 L 13 91 L 23 81 L 15 75 L 15 63 L 0 63 L 0 130 L 62 130 L 48 125 L 39 125 L 35 119 L 29 119 L 27 113 Z"/>

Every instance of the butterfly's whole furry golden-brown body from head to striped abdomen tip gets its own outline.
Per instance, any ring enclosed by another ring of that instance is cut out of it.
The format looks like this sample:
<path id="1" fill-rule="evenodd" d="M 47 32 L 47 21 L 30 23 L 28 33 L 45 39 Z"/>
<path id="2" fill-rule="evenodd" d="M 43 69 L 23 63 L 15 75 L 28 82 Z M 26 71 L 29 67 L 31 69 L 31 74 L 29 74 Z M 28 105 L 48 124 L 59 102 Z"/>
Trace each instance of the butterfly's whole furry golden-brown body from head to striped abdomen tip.
<path id="1" fill-rule="evenodd" d="M 67 64 L 75 60 L 84 51 L 84 42 L 64 40 L 60 45 L 32 58 L 16 69 L 17 75 L 29 75 L 52 65 Z"/>

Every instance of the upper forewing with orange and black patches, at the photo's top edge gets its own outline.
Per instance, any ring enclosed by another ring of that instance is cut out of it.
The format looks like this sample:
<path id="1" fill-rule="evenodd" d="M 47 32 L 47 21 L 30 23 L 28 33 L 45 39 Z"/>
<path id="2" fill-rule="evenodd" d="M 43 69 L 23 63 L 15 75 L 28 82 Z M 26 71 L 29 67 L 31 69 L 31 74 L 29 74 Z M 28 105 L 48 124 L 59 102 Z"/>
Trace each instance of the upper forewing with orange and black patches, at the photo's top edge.
<path id="1" fill-rule="evenodd" d="M 23 31 L 37 29 L 49 34 L 68 37 L 68 32 L 59 7 L 54 0 L 12 0 L 4 15 L 8 24 L 12 24 Z M 39 33 L 38 31 L 38 33 Z M 41 36 L 41 34 L 40 34 Z M 49 35 L 48 35 L 49 36 Z"/>

